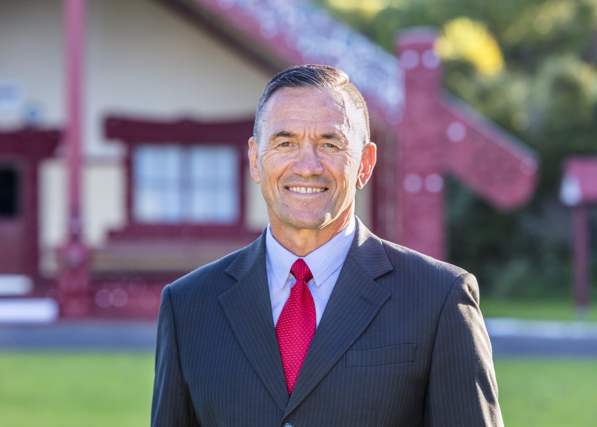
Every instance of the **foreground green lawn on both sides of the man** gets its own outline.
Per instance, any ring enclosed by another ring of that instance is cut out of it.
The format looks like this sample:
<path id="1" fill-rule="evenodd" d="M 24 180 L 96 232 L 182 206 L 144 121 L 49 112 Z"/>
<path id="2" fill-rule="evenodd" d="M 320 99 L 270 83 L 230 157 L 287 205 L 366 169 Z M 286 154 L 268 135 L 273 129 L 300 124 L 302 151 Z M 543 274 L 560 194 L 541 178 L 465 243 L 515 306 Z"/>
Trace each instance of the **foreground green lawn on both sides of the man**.
<path id="1" fill-rule="evenodd" d="M 597 425 L 597 360 L 499 359 L 508 427 Z M 0 426 L 149 425 L 153 353 L 0 353 Z"/>

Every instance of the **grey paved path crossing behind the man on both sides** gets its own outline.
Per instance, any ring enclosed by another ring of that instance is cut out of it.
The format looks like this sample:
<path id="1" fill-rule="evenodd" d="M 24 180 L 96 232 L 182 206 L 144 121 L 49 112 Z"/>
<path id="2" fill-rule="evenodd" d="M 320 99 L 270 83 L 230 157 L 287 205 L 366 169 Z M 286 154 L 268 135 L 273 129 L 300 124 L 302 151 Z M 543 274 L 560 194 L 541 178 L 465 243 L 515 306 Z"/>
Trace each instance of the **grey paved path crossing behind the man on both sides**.
<path id="1" fill-rule="evenodd" d="M 597 324 L 588 322 L 486 319 L 493 353 L 507 356 L 597 358 Z M 2 350 L 155 349 L 156 322 L 59 321 L 53 324 L 0 325 Z"/>

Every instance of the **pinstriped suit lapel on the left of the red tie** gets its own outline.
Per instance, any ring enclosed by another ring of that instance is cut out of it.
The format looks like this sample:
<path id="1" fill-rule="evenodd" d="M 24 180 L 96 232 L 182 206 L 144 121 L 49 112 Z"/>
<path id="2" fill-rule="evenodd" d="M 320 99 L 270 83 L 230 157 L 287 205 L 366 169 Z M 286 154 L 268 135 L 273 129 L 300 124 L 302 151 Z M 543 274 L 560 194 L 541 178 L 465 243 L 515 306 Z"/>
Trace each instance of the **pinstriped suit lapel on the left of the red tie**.
<path id="1" fill-rule="evenodd" d="M 288 389 L 267 286 L 265 231 L 236 257 L 226 272 L 238 282 L 220 295 L 220 304 L 257 376 L 284 411 Z"/>

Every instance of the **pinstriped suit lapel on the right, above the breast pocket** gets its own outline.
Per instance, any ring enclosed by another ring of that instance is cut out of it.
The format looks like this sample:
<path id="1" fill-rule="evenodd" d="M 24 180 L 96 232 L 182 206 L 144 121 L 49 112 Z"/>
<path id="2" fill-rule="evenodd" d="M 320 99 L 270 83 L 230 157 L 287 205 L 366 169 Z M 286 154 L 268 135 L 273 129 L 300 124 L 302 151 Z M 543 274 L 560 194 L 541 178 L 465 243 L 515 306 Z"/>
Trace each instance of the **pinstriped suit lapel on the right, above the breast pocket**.
<path id="1" fill-rule="evenodd" d="M 381 240 L 357 218 L 355 239 L 309 346 L 284 417 L 318 385 L 390 297 L 390 291 L 374 279 L 391 270 Z"/>

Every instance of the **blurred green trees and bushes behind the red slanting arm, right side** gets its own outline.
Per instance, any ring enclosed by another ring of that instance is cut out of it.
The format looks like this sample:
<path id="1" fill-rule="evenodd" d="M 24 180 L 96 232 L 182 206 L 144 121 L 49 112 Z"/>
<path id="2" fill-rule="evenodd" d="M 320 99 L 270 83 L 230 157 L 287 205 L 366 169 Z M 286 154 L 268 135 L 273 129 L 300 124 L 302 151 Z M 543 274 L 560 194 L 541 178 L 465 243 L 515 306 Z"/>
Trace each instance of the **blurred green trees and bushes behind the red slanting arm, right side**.
<path id="1" fill-rule="evenodd" d="M 458 17 L 485 23 L 504 68 L 487 76 L 463 60 L 445 60 L 445 86 L 538 152 L 540 182 L 533 200 L 510 213 L 450 182 L 450 261 L 475 273 L 486 295 L 570 295 L 570 215 L 558 192 L 565 158 L 597 154 L 597 0 L 391 0 L 373 15 L 333 12 L 389 51 L 401 28 L 441 32 Z"/>

